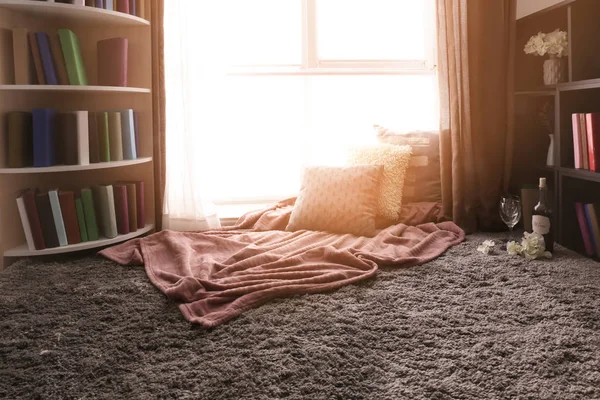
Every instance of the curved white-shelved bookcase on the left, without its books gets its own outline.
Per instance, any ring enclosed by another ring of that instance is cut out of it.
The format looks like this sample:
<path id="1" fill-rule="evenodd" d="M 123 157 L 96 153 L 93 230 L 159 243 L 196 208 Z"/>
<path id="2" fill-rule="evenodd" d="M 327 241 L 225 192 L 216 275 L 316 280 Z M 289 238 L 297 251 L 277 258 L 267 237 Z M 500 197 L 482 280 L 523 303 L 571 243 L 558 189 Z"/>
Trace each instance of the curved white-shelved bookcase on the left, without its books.
<path id="1" fill-rule="evenodd" d="M 154 163 L 152 140 L 152 19 L 150 0 L 145 18 L 112 10 L 52 1 L 0 0 L 0 270 L 17 257 L 68 253 L 112 245 L 154 230 Z M 12 29 L 56 32 L 71 29 L 79 38 L 88 86 L 15 85 Z M 112 37 L 129 40 L 129 87 L 97 85 L 96 44 Z M 140 66 L 144 66 L 140 68 Z M 138 112 L 139 149 L 135 160 L 7 168 L 6 113 L 52 108 L 66 111 L 106 111 L 132 108 Z M 31 251 L 25 244 L 16 198 L 27 188 L 76 190 L 119 181 L 144 181 L 145 227 L 128 235 Z"/>

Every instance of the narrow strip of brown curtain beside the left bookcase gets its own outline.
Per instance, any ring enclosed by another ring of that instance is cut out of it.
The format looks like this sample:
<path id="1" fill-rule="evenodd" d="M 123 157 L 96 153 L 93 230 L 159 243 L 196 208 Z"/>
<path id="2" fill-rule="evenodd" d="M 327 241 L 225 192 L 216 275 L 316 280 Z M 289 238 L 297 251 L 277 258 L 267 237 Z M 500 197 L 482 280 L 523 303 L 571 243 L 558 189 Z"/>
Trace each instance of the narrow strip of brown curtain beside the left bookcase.
<path id="1" fill-rule="evenodd" d="M 162 229 L 165 195 L 165 48 L 164 0 L 150 0 L 152 13 L 152 126 L 154 162 L 154 215 L 156 230 Z"/>

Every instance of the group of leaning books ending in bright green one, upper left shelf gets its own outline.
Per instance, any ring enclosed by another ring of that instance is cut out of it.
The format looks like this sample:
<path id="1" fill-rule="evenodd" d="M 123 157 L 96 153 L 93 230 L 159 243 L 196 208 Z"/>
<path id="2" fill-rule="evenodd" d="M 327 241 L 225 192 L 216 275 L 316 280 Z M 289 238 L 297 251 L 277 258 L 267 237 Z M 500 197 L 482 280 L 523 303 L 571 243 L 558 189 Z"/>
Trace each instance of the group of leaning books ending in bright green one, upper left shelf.
<path id="1" fill-rule="evenodd" d="M 59 29 L 57 34 L 49 35 L 14 28 L 12 38 L 15 84 L 88 84 L 79 39 L 73 31 Z"/>

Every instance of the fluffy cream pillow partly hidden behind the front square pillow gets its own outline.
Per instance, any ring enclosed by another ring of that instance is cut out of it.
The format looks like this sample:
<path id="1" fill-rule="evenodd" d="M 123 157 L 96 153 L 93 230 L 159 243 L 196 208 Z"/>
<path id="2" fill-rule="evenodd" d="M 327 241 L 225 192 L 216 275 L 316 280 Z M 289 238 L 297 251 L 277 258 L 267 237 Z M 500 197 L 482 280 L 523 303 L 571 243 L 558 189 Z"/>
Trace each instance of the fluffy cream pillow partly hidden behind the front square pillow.
<path id="1" fill-rule="evenodd" d="M 397 221 L 402 209 L 402 192 L 406 170 L 410 165 L 410 146 L 379 144 L 352 147 L 348 152 L 350 165 L 382 165 L 383 176 L 377 202 L 377 215 Z"/>

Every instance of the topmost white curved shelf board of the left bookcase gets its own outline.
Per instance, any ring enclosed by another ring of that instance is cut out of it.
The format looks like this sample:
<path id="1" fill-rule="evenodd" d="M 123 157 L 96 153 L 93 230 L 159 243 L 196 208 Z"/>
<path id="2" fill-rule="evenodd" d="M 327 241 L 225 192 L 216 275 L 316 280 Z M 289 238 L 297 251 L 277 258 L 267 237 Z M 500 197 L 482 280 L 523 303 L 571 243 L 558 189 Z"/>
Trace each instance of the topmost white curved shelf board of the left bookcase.
<path id="1" fill-rule="evenodd" d="M 48 1 L 0 0 L 0 8 L 23 13 L 36 18 L 51 17 L 86 25 L 149 26 L 150 22 L 133 15 L 72 4 Z"/>

